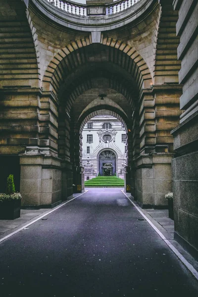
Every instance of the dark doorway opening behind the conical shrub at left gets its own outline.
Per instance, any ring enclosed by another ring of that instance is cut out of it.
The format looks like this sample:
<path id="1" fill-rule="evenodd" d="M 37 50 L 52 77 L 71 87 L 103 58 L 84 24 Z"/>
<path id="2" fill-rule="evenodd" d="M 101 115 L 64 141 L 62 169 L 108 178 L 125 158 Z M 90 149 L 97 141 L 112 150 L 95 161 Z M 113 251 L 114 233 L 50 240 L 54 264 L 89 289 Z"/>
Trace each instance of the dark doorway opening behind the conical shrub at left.
<path id="1" fill-rule="evenodd" d="M 16 192 L 20 191 L 20 158 L 19 156 L 0 156 L 0 193 L 5 193 L 7 177 L 14 176 Z"/>

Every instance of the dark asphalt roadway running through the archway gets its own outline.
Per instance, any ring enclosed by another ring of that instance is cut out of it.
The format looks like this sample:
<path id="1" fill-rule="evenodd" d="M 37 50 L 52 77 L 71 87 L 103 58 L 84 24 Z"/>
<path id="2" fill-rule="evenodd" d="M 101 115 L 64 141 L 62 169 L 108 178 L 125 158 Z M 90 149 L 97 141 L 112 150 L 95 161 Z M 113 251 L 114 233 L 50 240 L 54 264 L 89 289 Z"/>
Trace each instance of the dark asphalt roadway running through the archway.
<path id="1" fill-rule="evenodd" d="M 120 189 L 89 189 L 0 244 L 0 297 L 198 297 L 139 218 Z"/>

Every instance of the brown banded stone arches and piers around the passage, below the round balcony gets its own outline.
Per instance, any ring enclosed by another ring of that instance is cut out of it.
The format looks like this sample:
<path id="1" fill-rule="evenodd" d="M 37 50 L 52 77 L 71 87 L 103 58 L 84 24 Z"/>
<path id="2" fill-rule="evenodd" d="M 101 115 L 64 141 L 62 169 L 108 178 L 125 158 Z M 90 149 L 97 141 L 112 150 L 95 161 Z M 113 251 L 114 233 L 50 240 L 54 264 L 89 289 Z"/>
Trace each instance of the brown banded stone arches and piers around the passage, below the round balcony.
<path id="1" fill-rule="evenodd" d="M 33 2 L 27 10 L 19 0 L 0 2 L 13 6 L 9 17 L 1 13 L 4 25 L 6 18 L 26 21 L 23 39 L 21 28 L 8 32 L 7 38 L 15 34 L 19 52 L 10 68 L 2 65 L 8 76 L 0 88 L 0 153 L 20 155 L 23 205 L 54 205 L 72 195 L 73 184 L 83 189 L 80 121 L 106 109 L 128 129 L 127 170 L 135 198 L 164 207 L 164 194 L 172 190 L 170 131 L 181 114 L 177 11 L 170 1 L 150 1 L 137 23 L 104 30 L 95 43 L 90 32 L 53 22 Z M 11 43 L 8 53 L 13 54 Z M 99 94 L 106 95 L 103 103 Z"/>

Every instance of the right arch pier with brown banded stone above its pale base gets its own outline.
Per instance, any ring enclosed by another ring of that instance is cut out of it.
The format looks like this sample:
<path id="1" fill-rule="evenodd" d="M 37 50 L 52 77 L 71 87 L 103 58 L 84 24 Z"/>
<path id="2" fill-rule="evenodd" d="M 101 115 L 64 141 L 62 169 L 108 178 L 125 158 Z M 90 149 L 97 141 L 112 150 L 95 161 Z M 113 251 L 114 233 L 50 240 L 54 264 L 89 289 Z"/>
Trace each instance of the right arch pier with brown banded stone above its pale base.
<path id="1" fill-rule="evenodd" d="M 152 86 L 144 90 L 140 108 L 140 154 L 135 163 L 135 198 L 145 208 L 167 208 L 165 194 L 172 192 L 170 131 L 179 122 L 178 85 Z"/>

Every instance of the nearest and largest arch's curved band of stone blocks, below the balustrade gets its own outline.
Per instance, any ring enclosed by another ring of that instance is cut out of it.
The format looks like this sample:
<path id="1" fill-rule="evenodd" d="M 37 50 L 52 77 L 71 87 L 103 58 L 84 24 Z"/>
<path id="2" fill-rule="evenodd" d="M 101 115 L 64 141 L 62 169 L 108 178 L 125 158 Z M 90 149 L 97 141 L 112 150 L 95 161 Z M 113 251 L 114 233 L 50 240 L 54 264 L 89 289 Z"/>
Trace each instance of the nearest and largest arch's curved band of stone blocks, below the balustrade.
<path id="1" fill-rule="evenodd" d="M 94 55 L 98 62 L 111 61 L 126 69 L 135 79 L 138 89 L 152 84 L 148 65 L 136 49 L 112 38 L 107 38 L 103 44 L 91 44 L 90 40 L 81 39 L 59 50 L 49 63 L 43 82 L 51 84 L 57 92 L 65 76 L 93 60 Z"/>

